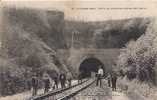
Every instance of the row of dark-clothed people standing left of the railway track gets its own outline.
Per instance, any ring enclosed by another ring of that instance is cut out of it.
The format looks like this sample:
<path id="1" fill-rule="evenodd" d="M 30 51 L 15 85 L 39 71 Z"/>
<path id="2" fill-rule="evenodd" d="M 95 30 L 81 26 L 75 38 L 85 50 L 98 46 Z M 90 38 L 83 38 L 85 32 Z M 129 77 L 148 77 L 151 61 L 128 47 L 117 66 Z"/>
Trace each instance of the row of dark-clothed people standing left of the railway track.
<path id="1" fill-rule="evenodd" d="M 60 75 L 55 75 L 53 78 L 49 76 L 49 74 L 44 73 L 42 77 L 42 83 L 44 83 L 44 93 L 48 92 L 50 88 L 58 89 L 59 83 L 61 88 L 66 88 L 66 83 L 68 86 L 71 86 L 72 75 L 70 72 L 61 73 Z M 37 91 L 39 88 L 39 78 L 37 75 L 34 75 L 31 80 L 32 84 L 32 96 L 37 95 Z"/>

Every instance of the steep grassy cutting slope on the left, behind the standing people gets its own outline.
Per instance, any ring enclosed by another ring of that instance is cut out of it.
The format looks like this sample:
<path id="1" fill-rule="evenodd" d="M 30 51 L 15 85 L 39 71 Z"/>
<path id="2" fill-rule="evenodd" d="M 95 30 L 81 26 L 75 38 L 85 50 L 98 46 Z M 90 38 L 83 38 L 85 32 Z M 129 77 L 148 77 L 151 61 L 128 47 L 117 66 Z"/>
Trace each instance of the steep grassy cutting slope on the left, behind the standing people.
<path id="1" fill-rule="evenodd" d="M 67 69 L 56 57 L 56 49 L 66 48 L 63 27 L 64 14 L 59 11 L 3 9 L 1 95 L 29 89 L 34 73 L 41 77 L 44 71 Z"/>

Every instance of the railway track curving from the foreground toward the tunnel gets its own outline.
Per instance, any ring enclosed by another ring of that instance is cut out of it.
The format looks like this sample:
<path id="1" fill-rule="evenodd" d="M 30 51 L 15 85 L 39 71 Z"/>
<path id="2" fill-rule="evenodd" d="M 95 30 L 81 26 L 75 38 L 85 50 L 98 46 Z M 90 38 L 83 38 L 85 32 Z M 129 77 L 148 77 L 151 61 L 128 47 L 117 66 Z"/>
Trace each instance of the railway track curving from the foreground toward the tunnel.
<path id="1" fill-rule="evenodd" d="M 31 97 L 29 100 L 69 100 L 80 91 L 86 89 L 95 82 L 94 79 L 86 79 L 82 83 L 78 83 L 71 87 L 50 91 L 46 94 Z"/>

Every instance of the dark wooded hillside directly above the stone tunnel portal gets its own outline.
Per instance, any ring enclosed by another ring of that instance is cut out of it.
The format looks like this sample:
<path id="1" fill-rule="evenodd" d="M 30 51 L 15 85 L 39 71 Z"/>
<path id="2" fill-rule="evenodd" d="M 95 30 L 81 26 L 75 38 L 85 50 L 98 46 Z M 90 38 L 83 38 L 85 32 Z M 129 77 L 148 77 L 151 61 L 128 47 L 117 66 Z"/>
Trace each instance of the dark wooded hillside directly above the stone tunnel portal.
<path id="1" fill-rule="evenodd" d="M 74 31 L 75 47 L 121 48 L 129 40 L 136 40 L 150 23 L 149 18 L 132 18 L 101 22 L 66 21 L 64 33 L 68 46 Z"/>

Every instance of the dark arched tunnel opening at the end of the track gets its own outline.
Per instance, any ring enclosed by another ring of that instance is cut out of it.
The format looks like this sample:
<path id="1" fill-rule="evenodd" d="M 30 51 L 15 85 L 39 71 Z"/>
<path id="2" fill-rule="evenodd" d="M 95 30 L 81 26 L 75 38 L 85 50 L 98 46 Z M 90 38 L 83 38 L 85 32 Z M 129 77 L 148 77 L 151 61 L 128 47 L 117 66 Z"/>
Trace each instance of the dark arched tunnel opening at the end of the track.
<path id="1" fill-rule="evenodd" d="M 104 69 L 104 64 L 97 58 L 87 58 L 80 64 L 79 71 L 82 72 L 83 78 L 91 77 L 91 72 L 97 72 L 99 66 Z"/>

